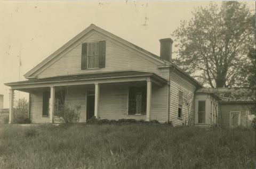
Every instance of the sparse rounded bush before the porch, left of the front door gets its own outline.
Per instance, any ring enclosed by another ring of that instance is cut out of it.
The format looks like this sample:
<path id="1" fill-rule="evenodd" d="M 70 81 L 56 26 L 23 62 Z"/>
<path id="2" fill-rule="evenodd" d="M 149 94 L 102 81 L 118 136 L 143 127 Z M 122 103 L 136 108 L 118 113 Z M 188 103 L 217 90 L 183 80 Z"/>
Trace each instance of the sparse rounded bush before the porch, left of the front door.
<path id="1" fill-rule="evenodd" d="M 68 104 L 62 104 L 54 115 L 59 116 L 64 123 L 72 124 L 79 121 L 80 114 L 81 106 L 70 107 Z"/>

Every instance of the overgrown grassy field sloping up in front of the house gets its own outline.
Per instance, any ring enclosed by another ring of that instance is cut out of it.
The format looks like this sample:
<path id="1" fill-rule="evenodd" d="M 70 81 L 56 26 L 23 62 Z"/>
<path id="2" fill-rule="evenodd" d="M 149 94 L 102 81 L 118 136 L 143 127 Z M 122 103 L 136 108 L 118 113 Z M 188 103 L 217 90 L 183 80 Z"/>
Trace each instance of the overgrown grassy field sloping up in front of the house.
<path id="1" fill-rule="evenodd" d="M 254 168 L 252 129 L 0 125 L 0 168 Z"/>

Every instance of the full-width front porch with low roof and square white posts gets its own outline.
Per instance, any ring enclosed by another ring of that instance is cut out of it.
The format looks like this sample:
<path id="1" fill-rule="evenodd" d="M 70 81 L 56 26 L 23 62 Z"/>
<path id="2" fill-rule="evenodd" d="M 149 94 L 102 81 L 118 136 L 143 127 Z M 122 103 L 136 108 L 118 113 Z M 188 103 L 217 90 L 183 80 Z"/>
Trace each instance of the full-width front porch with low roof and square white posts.
<path id="1" fill-rule="evenodd" d="M 115 120 L 167 119 L 167 99 L 163 100 L 167 94 L 167 81 L 154 73 L 91 73 L 6 85 L 11 87 L 9 123 L 13 123 L 14 90 L 29 93 L 31 123 L 58 123 L 54 111 L 61 93 L 65 95 L 63 102 L 81 107 L 79 122 L 86 122 L 92 116 Z"/>

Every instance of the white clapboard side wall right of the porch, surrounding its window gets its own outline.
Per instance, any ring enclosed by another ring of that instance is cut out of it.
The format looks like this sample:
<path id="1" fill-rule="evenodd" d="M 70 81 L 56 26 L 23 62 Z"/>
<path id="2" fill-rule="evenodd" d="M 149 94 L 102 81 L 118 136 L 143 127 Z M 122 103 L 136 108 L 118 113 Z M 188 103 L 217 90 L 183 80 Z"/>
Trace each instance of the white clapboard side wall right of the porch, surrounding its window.
<path id="1" fill-rule="evenodd" d="M 179 90 L 183 92 L 182 119 L 178 119 Z M 195 124 L 195 90 L 196 87 L 192 82 L 186 80 L 185 77 L 177 72 L 171 71 L 169 120 L 173 125 L 185 125 L 186 121 L 186 125 L 188 125 L 188 119 L 189 125 Z M 188 101 L 185 101 L 186 97 Z M 186 103 L 189 103 L 189 106 L 187 106 Z"/>

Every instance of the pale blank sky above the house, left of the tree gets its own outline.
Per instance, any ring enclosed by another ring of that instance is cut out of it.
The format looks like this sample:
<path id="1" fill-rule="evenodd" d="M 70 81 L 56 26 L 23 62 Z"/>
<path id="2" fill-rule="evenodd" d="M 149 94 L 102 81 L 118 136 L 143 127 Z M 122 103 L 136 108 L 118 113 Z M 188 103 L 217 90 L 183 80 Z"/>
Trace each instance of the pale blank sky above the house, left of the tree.
<path id="1" fill-rule="evenodd" d="M 171 34 L 181 20 L 190 20 L 196 7 L 209 3 L 0 1 L 0 94 L 4 95 L 4 108 L 9 108 L 10 89 L 4 83 L 26 80 L 25 73 L 91 23 L 159 56 L 159 39 L 173 38 Z M 27 99 L 28 94 L 15 91 L 15 99 L 23 97 Z"/>

